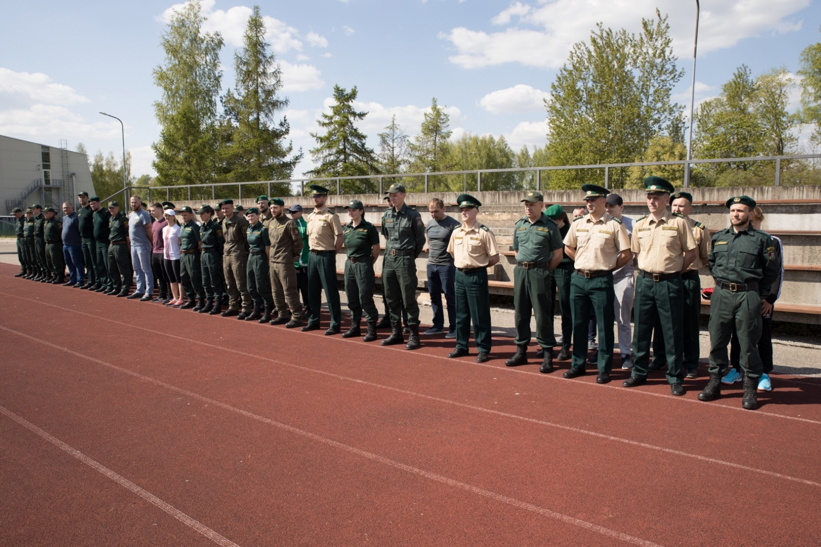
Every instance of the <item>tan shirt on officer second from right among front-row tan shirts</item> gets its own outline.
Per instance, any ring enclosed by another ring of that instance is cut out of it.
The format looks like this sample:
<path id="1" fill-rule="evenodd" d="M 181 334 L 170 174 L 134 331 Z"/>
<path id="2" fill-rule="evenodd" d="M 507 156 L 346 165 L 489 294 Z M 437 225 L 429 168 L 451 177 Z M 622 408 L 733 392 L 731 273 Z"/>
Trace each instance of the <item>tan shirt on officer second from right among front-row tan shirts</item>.
<path id="1" fill-rule="evenodd" d="M 608 213 L 598 221 L 585 215 L 570 225 L 564 244 L 576 248 L 577 270 L 610 271 L 616 269 L 621 251 L 630 249 L 630 236 L 621 221 Z"/>

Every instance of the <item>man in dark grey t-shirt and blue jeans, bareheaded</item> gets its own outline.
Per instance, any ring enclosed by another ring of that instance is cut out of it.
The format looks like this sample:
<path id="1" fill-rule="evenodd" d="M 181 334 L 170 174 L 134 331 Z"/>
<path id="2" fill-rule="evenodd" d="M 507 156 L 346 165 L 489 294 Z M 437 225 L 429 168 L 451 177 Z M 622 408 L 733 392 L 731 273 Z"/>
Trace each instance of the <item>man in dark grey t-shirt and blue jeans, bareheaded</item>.
<path id="1" fill-rule="evenodd" d="M 447 244 L 451 241 L 453 229 L 459 226 L 459 221 L 445 214 L 445 204 L 438 198 L 430 200 L 428 211 L 431 219 L 424 227 L 424 232 L 428 236 L 428 292 L 430 306 L 433 308 L 433 327 L 423 334 L 438 335 L 444 332 L 444 292 L 449 327 L 445 338 L 456 338 L 456 267 L 451 253 L 447 252 Z"/>

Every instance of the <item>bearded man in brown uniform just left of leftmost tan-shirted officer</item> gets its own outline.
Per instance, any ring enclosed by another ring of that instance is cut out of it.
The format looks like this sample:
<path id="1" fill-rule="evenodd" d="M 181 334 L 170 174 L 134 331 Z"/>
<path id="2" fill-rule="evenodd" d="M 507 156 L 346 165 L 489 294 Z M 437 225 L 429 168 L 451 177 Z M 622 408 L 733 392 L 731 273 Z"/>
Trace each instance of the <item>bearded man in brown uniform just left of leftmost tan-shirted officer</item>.
<path id="1" fill-rule="evenodd" d="M 302 253 L 302 237 L 296 223 L 285 216 L 285 202 L 282 198 L 273 198 L 269 207 L 272 213 L 268 219 L 268 239 L 271 240 L 271 256 L 268 270 L 271 274 L 273 305 L 277 308 L 277 317 L 271 325 L 285 325 L 292 329 L 302 326 L 302 304 L 296 288 L 296 267 Z M 265 221 L 263 221 L 263 224 Z M 287 308 L 291 308 L 288 313 Z"/>

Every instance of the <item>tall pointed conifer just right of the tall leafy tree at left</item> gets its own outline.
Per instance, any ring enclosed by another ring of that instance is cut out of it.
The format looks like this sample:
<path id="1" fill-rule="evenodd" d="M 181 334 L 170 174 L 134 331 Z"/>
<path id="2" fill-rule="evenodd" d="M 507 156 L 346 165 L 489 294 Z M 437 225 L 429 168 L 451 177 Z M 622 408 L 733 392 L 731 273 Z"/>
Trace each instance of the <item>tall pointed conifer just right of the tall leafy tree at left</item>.
<path id="1" fill-rule="evenodd" d="M 248 18 L 243 47 L 234 54 L 236 93 L 231 89 L 222 97 L 223 119 L 220 133 L 220 159 L 226 182 L 290 179 L 302 153 L 288 157 L 293 144 L 284 139 L 290 130 L 287 118 L 277 123 L 276 113 L 288 106 L 282 89 L 282 71 L 271 44 L 265 41 L 265 24 L 259 6 Z M 277 195 L 291 194 L 291 186 L 272 186 Z"/>

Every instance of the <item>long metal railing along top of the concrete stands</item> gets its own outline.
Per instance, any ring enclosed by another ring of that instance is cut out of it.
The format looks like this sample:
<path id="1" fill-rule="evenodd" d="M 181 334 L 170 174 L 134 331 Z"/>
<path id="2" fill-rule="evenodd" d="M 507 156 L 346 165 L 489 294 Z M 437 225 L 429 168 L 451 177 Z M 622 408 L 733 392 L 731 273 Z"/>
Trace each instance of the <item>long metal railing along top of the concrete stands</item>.
<path id="1" fill-rule="evenodd" d="M 430 180 L 431 177 L 434 176 L 447 176 L 447 175 L 475 175 L 476 185 L 475 188 L 477 191 L 482 191 L 482 176 L 483 175 L 495 175 L 495 174 L 502 174 L 502 173 L 534 173 L 535 175 L 535 189 L 541 190 L 542 188 L 542 174 L 544 172 L 552 173 L 554 171 L 580 171 L 580 170 L 590 170 L 590 169 L 598 169 L 603 170 L 603 185 L 605 188 L 610 187 L 610 170 L 614 168 L 624 168 L 624 167 L 651 167 L 651 166 L 681 166 L 682 170 L 691 170 L 693 166 L 708 166 L 710 164 L 720 164 L 720 163 L 750 163 L 750 162 L 775 162 L 775 170 L 773 173 L 773 184 L 775 186 L 781 185 L 781 175 L 782 175 L 782 162 L 789 162 L 795 160 L 808 160 L 808 159 L 818 159 L 821 158 L 821 154 L 796 154 L 791 156 L 753 156 L 753 157 L 724 157 L 719 159 L 706 159 L 706 160 L 675 160 L 675 161 L 668 161 L 668 162 L 631 162 L 631 163 L 602 163 L 602 164 L 590 164 L 590 165 L 577 165 L 577 166 L 534 166 L 534 167 L 510 167 L 506 169 L 470 169 L 464 171 L 436 171 L 436 172 L 425 172 L 425 173 L 393 173 L 393 174 L 374 174 L 374 175 L 357 175 L 357 176 L 337 176 L 337 177 L 318 177 L 318 178 L 301 178 L 301 179 L 287 179 L 287 180 L 258 180 L 258 181 L 246 181 L 246 182 L 221 182 L 221 183 L 213 183 L 213 184 L 204 184 L 204 185 L 171 185 L 171 186 L 130 186 L 127 189 L 118 190 L 117 193 L 108 196 L 103 201 L 108 201 L 111 198 L 119 194 L 123 194 L 126 196 L 126 199 L 131 194 L 132 189 L 140 189 L 146 190 L 148 192 L 147 199 L 148 201 L 151 200 L 151 194 L 155 192 L 160 192 L 165 194 L 165 198 L 170 201 L 172 198 L 172 192 L 175 195 L 179 195 L 180 191 L 183 191 L 183 195 L 186 194 L 188 200 L 193 199 L 193 195 L 196 194 L 196 198 L 203 199 L 208 198 L 208 194 L 210 194 L 211 200 L 217 199 L 217 189 L 227 187 L 227 186 L 236 186 L 237 193 L 234 194 L 232 197 L 242 198 L 242 187 L 247 185 L 255 185 L 259 188 L 260 185 L 267 185 L 267 195 L 271 195 L 271 188 L 272 185 L 289 185 L 291 188 L 294 185 L 300 189 L 300 195 L 305 195 L 305 186 L 306 184 L 323 184 L 324 186 L 335 186 L 337 195 L 342 194 L 342 182 L 351 180 L 351 181 L 359 181 L 359 180 L 378 180 L 378 193 L 383 194 L 386 187 L 385 187 L 385 179 L 388 180 L 397 180 L 397 179 L 407 179 L 407 178 L 424 178 L 424 192 L 429 192 L 430 189 Z M 683 171 L 682 171 L 683 172 Z M 685 180 L 685 187 L 688 187 L 687 178 Z M 328 185 L 327 183 L 331 183 Z M 192 193 L 192 189 L 200 190 Z M 208 192 L 210 189 L 210 193 Z M 374 190 L 376 188 L 374 187 Z M 471 185 L 471 190 L 472 190 Z M 202 191 L 204 190 L 204 192 Z M 333 191 L 333 190 L 332 190 Z M 451 190 L 448 190 L 451 191 Z M 348 192 L 351 194 L 351 192 Z M 370 194 L 373 192 L 353 192 L 355 194 Z M 182 199 L 181 197 L 177 197 L 177 199 Z"/>

